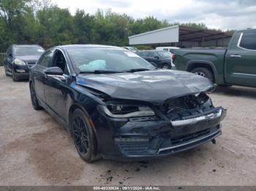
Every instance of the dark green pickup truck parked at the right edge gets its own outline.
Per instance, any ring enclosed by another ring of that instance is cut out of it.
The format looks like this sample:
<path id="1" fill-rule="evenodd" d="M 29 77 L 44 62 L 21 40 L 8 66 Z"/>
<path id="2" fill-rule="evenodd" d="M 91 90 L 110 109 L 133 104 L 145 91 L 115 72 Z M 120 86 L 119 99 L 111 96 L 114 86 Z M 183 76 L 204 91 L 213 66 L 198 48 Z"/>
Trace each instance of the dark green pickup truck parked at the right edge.
<path id="1" fill-rule="evenodd" d="M 208 77 L 217 85 L 256 87 L 256 29 L 236 31 L 227 48 L 175 50 L 178 70 Z"/>

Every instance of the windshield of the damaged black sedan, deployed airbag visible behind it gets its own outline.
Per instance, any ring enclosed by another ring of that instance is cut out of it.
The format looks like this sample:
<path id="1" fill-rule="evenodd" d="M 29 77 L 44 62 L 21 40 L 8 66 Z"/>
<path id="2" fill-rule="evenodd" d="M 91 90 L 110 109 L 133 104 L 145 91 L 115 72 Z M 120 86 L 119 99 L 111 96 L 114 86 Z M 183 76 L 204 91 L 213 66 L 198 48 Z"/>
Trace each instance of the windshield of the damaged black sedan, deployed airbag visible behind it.
<path id="1" fill-rule="evenodd" d="M 72 63 L 80 72 L 131 71 L 155 69 L 151 63 L 128 50 L 110 48 L 73 48 L 67 50 Z"/>

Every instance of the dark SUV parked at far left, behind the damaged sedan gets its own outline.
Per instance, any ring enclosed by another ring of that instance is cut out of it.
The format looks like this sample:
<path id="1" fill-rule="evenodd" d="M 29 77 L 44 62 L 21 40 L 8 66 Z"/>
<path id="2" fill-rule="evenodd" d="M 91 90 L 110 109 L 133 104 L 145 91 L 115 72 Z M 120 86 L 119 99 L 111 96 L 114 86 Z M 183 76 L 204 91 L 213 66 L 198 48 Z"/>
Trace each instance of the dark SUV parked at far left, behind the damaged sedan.
<path id="1" fill-rule="evenodd" d="M 39 59 L 45 50 L 37 44 L 12 44 L 4 58 L 6 76 L 12 76 L 14 82 L 19 79 L 29 79 L 29 67 Z"/>

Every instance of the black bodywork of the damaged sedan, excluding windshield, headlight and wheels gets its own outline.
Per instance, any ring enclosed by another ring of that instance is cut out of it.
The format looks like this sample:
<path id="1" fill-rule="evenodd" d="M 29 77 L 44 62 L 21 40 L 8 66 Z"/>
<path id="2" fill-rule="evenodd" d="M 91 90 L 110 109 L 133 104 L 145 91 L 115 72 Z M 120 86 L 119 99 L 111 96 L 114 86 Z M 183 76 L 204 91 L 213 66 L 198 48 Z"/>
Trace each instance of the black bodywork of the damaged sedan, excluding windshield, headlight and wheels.
<path id="1" fill-rule="evenodd" d="M 226 110 L 214 107 L 206 95 L 214 89 L 208 79 L 170 70 L 78 74 L 67 53 L 69 48 L 76 47 L 108 48 L 69 45 L 47 50 L 31 67 L 30 83 L 35 87 L 39 105 L 67 130 L 71 128 L 74 109 L 83 110 L 93 127 L 97 151 L 102 157 L 113 160 L 164 157 L 211 141 L 222 133 L 221 122 Z M 68 69 L 68 72 L 62 76 L 47 76 L 45 69 L 55 66 L 57 53 L 63 54 L 67 64 L 63 71 Z M 48 63 L 42 66 L 43 58 L 48 55 Z M 204 100 L 202 106 L 177 111 L 170 109 L 173 104 L 182 105 L 182 101 L 191 105 L 193 99 L 199 97 Z M 150 106 L 155 115 L 111 117 L 102 109 L 108 104 Z"/>

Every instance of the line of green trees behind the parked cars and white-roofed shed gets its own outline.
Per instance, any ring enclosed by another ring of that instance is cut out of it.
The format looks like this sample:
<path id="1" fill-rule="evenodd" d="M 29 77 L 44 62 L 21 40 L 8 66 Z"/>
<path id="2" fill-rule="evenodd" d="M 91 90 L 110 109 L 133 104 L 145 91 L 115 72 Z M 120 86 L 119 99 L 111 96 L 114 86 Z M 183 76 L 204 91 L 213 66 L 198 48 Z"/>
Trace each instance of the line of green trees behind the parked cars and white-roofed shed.
<path id="1" fill-rule="evenodd" d="M 0 52 L 10 44 L 127 46 L 128 36 L 176 24 L 153 16 L 134 19 L 110 9 L 99 9 L 93 15 L 77 9 L 72 15 L 50 0 L 0 0 Z M 181 25 L 207 28 L 203 23 Z"/>

